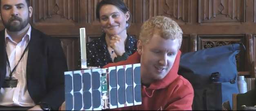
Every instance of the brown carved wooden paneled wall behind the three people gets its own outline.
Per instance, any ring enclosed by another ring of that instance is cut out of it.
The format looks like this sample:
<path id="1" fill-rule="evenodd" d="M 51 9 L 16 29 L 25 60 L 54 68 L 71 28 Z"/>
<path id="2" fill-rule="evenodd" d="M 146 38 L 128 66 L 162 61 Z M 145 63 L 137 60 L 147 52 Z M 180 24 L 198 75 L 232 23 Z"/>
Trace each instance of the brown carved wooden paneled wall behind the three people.
<path id="1" fill-rule="evenodd" d="M 67 56 L 69 70 L 79 69 L 79 28 L 87 38 L 102 34 L 96 19 L 100 0 L 31 0 L 31 24 L 58 37 Z M 172 18 L 183 29 L 182 52 L 241 42 L 246 51 L 237 56 L 238 70 L 255 76 L 256 0 L 123 0 L 131 11 L 128 33 L 138 37 L 140 26 L 149 17 Z M 3 28 L 2 25 L 0 25 Z"/>

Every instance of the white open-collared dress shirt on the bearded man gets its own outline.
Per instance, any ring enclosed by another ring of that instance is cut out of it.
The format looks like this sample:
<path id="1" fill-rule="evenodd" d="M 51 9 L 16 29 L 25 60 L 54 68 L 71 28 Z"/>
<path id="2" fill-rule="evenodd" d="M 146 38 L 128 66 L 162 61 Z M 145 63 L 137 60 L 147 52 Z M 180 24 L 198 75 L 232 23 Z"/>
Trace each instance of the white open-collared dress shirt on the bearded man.
<path id="1" fill-rule="evenodd" d="M 6 52 L 9 58 L 11 65 L 11 70 L 18 63 L 23 51 L 27 47 L 29 40 L 31 38 L 31 26 L 27 34 L 24 35 L 22 40 L 19 43 L 13 41 L 13 39 L 8 35 L 7 30 L 5 29 L 5 44 Z M 5 52 L 4 52 L 5 53 Z M 31 107 L 35 106 L 35 103 L 31 99 L 28 89 L 27 89 L 27 77 L 26 77 L 26 68 L 27 68 L 27 55 L 28 50 L 22 57 L 20 63 L 17 65 L 16 70 L 13 72 L 12 78 L 18 79 L 18 85 L 14 88 L 1 88 L 0 90 L 0 105 L 1 106 L 22 106 L 22 107 Z M 9 78 L 10 68 L 6 66 L 6 79 Z"/>

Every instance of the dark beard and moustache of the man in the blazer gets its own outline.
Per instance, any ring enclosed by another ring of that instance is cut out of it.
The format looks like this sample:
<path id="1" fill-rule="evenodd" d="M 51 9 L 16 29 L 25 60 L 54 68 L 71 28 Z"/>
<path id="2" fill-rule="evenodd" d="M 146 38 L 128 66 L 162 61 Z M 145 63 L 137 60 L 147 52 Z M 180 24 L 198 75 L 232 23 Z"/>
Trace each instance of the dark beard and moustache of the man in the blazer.
<path id="1" fill-rule="evenodd" d="M 2 19 L 3 20 L 3 19 Z M 19 25 L 17 25 L 18 23 L 12 23 L 14 20 L 18 20 L 20 23 Z M 3 25 L 4 27 L 9 30 L 10 32 L 17 32 L 22 30 L 23 28 L 25 28 L 27 26 L 27 24 L 29 23 L 29 17 L 27 17 L 27 19 L 25 19 L 24 21 L 22 21 L 22 19 L 18 16 L 12 16 L 8 22 L 4 22 L 3 21 Z"/>

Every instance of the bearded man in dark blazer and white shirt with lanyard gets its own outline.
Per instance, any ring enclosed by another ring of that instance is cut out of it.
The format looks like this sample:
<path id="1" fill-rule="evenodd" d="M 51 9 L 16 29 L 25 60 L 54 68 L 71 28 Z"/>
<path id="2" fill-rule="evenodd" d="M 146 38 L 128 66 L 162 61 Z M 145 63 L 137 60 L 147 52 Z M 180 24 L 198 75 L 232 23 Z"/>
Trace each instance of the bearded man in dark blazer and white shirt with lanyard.
<path id="1" fill-rule="evenodd" d="M 31 27 L 29 0 L 0 0 L 0 110 L 54 110 L 65 100 L 65 54 Z"/>

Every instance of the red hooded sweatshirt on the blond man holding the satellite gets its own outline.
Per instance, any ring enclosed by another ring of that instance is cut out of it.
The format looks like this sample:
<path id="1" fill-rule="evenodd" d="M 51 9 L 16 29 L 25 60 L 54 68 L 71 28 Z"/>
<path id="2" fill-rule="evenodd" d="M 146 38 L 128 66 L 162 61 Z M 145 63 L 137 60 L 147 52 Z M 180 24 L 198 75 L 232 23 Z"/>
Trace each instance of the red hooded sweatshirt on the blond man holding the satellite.
<path id="1" fill-rule="evenodd" d="M 170 72 L 162 80 L 151 83 L 149 87 L 142 85 L 142 104 L 123 107 L 114 110 L 192 110 L 194 90 L 192 85 L 178 75 L 180 62 L 179 51 Z M 104 67 L 140 63 L 138 52 L 132 54 L 126 61 L 109 63 Z"/>

